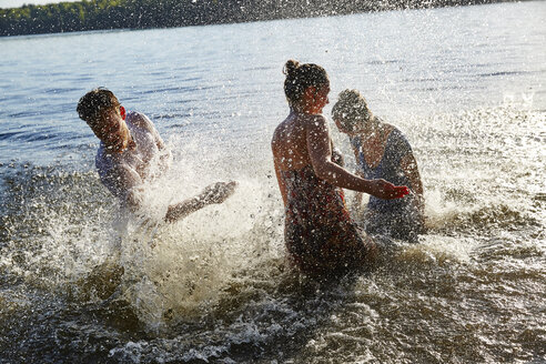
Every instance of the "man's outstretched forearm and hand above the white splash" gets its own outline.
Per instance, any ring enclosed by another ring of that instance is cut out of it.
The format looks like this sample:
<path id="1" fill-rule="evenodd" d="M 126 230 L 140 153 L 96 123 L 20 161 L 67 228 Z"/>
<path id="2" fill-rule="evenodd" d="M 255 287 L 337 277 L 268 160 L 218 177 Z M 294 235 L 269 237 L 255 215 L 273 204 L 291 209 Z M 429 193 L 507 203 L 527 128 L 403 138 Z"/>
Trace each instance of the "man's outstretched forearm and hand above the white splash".
<path id="1" fill-rule="evenodd" d="M 175 222 L 206 205 L 222 203 L 235 192 L 236 185 L 237 183 L 234 181 L 211 184 L 196 196 L 170 205 L 164 220 Z"/>

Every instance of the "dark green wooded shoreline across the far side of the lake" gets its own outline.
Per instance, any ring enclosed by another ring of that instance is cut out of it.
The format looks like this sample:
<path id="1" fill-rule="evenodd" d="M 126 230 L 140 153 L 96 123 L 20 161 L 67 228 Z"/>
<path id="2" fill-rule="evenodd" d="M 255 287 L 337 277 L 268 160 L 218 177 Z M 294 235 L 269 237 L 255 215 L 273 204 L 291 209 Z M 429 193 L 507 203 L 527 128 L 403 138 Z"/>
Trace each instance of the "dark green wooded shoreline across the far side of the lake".
<path id="1" fill-rule="evenodd" d="M 309 0 L 306 7 L 299 0 L 244 0 L 235 4 L 215 0 L 199 2 L 143 4 L 125 0 L 103 7 L 99 0 L 60 2 L 46 6 L 0 8 L 0 37 L 54 34 L 105 30 L 168 29 L 195 26 L 246 23 L 283 19 L 303 19 L 348 16 L 410 9 L 466 7 L 514 0 Z M 120 6 L 121 3 L 121 6 Z M 124 4 L 124 6 L 123 6 Z"/>

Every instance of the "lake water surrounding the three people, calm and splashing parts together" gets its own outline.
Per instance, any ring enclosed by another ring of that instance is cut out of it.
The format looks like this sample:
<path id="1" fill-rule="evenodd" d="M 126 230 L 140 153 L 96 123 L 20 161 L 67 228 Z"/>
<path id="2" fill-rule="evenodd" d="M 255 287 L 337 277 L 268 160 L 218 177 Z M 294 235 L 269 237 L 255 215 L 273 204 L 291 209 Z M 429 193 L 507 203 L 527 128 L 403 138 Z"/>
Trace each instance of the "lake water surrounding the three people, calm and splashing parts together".
<path id="1" fill-rule="evenodd" d="M 0 363 L 546 361 L 545 18 L 532 1 L 1 38 Z M 270 140 L 291 58 L 327 70 L 332 104 L 360 89 L 422 172 L 421 244 L 341 282 L 285 262 Z M 75 113 L 98 85 L 174 152 L 151 216 L 212 181 L 237 192 L 120 230 Z"/>

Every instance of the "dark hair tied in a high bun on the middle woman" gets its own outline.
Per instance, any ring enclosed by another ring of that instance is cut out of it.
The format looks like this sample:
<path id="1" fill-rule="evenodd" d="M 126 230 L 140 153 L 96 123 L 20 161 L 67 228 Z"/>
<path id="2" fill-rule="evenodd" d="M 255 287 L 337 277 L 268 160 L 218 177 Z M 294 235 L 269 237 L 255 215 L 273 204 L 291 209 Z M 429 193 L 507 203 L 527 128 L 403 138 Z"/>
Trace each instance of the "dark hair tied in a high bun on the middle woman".
<path id="1" fill-rule="evenodd" d="M 303 93 L 309 87 L 321 88 L 330 84 L 326 71 L 314 63 L 303 63 L 289 60 L 284 64 L 283 73 L 286 74 L 284 80 L 284 93 L 290 104 L 296 104 L 302 101 Z"/>

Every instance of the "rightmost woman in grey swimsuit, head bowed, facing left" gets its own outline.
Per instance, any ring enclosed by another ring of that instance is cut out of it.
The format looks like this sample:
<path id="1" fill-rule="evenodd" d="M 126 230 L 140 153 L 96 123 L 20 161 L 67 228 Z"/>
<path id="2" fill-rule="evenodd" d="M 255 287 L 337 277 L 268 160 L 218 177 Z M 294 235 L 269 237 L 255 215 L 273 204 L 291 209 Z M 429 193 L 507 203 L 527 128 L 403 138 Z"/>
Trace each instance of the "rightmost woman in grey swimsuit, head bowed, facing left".
<path id="1" fill-rule="evenodd" d="M 364 219 L 366 232 L 416 242 L 416 235 L 424 232 L 423 184 L 407 139 L 394 125 L 375 117 L 357 90 L 341 92 L 332 115 L 337 129 L 351 140 L 358 175 L 385 179 L 411 190 L 401 200 L 371 196 Z M 357 202 L 362 202 L 361 193 Z"/>

